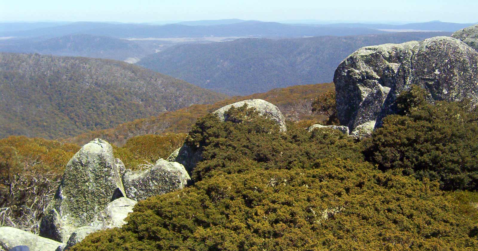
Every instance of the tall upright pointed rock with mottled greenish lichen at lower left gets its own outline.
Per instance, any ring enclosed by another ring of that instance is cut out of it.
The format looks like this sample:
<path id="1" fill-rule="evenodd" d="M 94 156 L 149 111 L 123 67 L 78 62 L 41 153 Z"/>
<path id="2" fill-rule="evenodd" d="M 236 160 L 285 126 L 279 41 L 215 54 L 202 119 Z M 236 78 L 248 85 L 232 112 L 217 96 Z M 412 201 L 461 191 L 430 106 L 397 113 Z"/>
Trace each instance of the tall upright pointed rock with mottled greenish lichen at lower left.
<path id="1" fill-rule="evenodd" d="M 95 139 L 84 145 L 66 165 L 40 235 L 66 242 L 75 229 L 94 221 L 109 202 L 124 195 L 118 168 L 108 142 Z"/>

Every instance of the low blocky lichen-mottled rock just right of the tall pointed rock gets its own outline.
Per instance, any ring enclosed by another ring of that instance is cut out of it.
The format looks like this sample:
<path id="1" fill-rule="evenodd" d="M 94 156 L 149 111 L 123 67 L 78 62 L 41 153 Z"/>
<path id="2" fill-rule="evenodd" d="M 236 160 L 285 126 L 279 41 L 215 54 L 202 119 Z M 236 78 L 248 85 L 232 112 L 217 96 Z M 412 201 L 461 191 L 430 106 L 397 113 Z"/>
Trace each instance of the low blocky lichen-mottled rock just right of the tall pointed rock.
<path id="1" fill-rule="evenodd" d="M 143 200 L 182 189 L 188 180 L 189 175 L 182 164 L 159 159 L 144 171 L 127 170 L 123 185 L 128 198 Z"/>

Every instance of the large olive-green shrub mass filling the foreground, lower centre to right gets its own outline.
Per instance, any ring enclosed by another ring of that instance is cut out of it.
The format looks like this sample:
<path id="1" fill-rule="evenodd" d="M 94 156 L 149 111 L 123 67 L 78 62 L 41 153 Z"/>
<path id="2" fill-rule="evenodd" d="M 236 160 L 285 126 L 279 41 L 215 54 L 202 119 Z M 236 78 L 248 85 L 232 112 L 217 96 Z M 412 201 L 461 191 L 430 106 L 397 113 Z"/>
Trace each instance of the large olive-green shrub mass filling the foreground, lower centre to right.
<path id="1" fill-rule="evenodd" d="M 140 201 L 121 229 L 73 251 L 465 250 L 478 247 L 473 193 L 363 161 L 333 130 L 288 131 L 246 107 L 199 119 L 195 184 Z"/>

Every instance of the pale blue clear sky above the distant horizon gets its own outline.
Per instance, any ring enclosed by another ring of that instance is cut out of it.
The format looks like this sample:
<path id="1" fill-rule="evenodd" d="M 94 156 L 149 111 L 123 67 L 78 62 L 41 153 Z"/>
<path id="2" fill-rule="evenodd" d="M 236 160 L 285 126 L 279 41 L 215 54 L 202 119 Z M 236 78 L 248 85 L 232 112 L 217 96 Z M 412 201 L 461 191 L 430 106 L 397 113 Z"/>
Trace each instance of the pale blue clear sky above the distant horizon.
<path id="1" fill-rule="evenodd" d="M 0 0 L 0 22 L 478 22 L 478 0 Z"/>

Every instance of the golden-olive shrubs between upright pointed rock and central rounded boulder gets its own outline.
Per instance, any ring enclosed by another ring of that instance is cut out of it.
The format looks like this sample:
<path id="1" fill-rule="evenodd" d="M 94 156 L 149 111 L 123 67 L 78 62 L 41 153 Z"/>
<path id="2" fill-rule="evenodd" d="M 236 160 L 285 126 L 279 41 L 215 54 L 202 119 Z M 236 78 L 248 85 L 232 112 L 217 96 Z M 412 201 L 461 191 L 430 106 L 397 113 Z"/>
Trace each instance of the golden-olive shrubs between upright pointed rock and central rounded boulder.
<path id="1" fill-rule="evenodd" d="M 123 161 L 126 168 L 135 170 L 141 165 L 167 158 L 174 150 L 181 147 L 185 137 L 185 133 L 136 136 L 130 138 L 122 147 L 113 145 L 113 152 L 116 158 Z"/>

